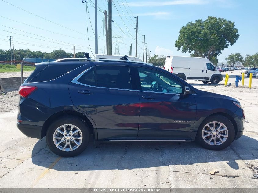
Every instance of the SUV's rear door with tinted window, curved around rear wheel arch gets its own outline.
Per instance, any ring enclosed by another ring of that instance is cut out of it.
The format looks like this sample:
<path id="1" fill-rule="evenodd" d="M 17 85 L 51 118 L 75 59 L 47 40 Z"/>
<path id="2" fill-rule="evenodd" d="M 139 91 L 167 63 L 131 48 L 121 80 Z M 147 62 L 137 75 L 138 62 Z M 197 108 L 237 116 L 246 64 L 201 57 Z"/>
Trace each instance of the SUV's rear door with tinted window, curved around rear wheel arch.
<path id="1" fill-rule="evenodd" d="M 129 66 L 93 66 L 71 81 L 69 91 L 74 106 L 93 119 L 98 140 L 137 138 L 140 104 Z"/>

